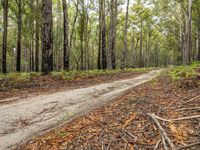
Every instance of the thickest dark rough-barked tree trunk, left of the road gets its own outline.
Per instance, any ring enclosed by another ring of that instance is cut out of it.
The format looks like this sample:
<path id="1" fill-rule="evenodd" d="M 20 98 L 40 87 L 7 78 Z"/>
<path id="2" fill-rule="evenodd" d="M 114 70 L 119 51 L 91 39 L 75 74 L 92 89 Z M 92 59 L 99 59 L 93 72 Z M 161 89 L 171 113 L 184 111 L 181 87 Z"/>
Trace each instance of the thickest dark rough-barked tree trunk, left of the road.
<path id="1" fill-rule="evenodd" d="M 42 18 L 42 73 L 46 75 L 53 70 L 53 20 L 51 0 L 42 0 Z"/>

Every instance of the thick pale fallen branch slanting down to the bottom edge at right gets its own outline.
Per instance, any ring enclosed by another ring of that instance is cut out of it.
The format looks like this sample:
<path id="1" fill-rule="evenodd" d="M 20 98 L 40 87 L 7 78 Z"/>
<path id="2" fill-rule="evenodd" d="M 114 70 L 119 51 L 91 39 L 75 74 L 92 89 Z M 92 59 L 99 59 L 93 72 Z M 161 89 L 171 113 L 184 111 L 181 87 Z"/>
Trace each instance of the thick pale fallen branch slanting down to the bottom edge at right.
<path id="1" fill-rule="evenodd" d="M 174 149 L 175 149 L 175 146 L 174 146 L 174 144 L 172 143 L 172 141 L 170 140 L 170 138 L 167 136 L 167 133 L 166 133 L 165 130 L 162 128 L 162 126 L 160 125 L 160 123 L 158 122 L 158 120 L 156 119 L 157 116 L 154 115 L 154 114 L 149 114 L 149 113 L 148 113 L 148 115 L 149 115 L 149 117 L 151 117 L 151 119 L 153 119 L 153 121 L 155 122 L 155 124 L 156 124 L 156 126 L 158 127 L 158 129 L 160 130 L 160 133 L 161 133 L 162 137 L 164 138 L 164 140 L 169 144 L 170 148 L 171 148 L 172 150 L 174 150 Z M 165 147 L 165 149 L 166 149 L 166 147 Z"/>

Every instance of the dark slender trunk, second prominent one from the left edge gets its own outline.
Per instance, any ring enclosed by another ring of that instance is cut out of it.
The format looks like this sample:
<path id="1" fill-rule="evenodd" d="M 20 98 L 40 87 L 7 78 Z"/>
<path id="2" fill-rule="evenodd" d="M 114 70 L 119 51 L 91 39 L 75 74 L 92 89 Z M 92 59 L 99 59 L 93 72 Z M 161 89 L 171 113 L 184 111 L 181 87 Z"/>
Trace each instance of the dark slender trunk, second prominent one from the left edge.
<path id="1" fill-rule="evenodd" d="M 21 33 L 22 33 L 22 0 L 18 0 L 18 34 L 17 34 L 17 63 L 16 63 L 16 71 L 21 71 Z"/>

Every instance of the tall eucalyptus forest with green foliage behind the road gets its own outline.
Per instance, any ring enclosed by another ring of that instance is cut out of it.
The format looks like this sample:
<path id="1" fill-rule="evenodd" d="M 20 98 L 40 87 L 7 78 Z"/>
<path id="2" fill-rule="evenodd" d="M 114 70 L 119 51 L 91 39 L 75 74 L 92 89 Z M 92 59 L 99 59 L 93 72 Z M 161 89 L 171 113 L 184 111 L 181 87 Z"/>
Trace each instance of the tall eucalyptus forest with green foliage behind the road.
<path id="1" fill-rule="evenodd" d="M 199 0 L 2 0 L 1 72 L 200 60 Z"/>

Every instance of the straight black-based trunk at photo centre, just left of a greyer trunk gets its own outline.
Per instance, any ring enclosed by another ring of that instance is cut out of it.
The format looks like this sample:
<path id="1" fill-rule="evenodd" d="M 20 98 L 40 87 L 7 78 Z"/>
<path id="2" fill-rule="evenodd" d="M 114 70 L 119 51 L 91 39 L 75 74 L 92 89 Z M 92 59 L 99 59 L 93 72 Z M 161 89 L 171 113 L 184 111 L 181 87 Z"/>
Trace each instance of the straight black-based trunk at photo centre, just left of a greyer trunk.
<path id="1" fill-rule="evenodd" d="M 102 69 L 107 69 L 105 0 L 102 0 Z"/>

